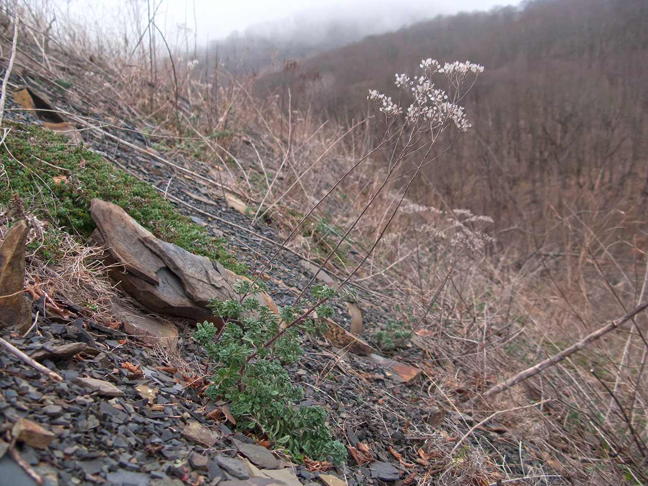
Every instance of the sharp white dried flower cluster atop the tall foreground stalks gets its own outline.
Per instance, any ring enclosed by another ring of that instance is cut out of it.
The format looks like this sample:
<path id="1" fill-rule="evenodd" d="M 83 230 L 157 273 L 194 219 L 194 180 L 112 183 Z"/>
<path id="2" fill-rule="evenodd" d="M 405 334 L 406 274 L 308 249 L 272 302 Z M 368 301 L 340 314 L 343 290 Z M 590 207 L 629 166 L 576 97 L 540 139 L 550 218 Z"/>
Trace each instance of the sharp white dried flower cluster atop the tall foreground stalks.
<path id="1" fill-rule="evenodd" d="M 423 69 L 422 76 L 415 76 L 414 80 L 406 74 L 397 74 L 395 84 L 399 89 L 410 87 L 414 100 L 406 110 L 405 123 L 409 126 L 430 126 L 437 128 L 448 123 L 454 123 L 457 130 L 465 132 L 470 128 L 463 106 L 459 106 L 452 99 L 458 98 L 461 93 L 463 81 L 470 74 L 478 75 L 483 72 L 483 66 L 471 63 L 470 61 L 452 63 L 446 62 L 443 67 L 435 59 L 428 58 L 419 64 Z M 448 97 L 443 90 L 435 87 L 432 76 L 441 73 L 448 78 L 450 86 L 456 93 Z M 382 104 L 378 109 L 386 115 L 397 115 L 403 109 L 393 103 L 391 97 L 386 97 L 378 91 L 369 91 L 367 99 Z"/>

